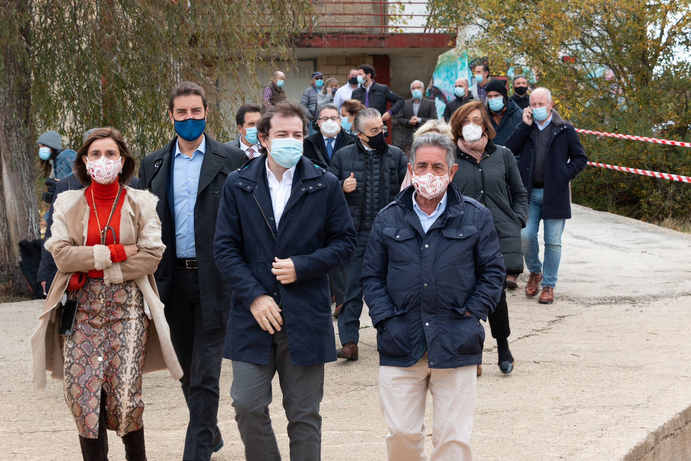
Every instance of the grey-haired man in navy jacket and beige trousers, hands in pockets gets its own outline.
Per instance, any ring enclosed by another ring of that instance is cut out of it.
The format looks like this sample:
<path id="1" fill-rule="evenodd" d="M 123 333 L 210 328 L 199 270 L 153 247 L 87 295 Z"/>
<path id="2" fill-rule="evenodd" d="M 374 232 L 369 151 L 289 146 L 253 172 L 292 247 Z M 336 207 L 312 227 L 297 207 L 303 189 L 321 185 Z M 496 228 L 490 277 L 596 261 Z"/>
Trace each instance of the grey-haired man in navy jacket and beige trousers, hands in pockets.
<path id="1" fill-rule="evenodd" d="M 413 142 L 413 185 L 382 209 L 362 283 L 379 350 L 379 405 L 389 460 L 426 459 L 424 408 L 434 404 L 432 459 L 471 460 L 475 370 L 499 301 L 504 259 L 488 209 L 454 185 L 453 142 Z"/>

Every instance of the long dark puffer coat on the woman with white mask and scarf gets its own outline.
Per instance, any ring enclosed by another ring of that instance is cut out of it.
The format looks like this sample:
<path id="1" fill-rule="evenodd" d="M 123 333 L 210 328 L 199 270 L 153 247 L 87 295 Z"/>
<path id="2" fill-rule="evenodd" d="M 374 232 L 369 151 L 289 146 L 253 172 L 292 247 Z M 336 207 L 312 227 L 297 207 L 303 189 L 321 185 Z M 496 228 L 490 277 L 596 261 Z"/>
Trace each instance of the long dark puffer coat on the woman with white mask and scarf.
<path id="1" fill-rule="evenodd" d="M 456 148 L 458 170 L 453 184 L 461 194 L 474 198 L 492 212 L 507 274 L 523 272 L 520 229 L 528 220 L 528 194 L 513 153 L 503 146 L 486 149 L 478 163 Z"/>

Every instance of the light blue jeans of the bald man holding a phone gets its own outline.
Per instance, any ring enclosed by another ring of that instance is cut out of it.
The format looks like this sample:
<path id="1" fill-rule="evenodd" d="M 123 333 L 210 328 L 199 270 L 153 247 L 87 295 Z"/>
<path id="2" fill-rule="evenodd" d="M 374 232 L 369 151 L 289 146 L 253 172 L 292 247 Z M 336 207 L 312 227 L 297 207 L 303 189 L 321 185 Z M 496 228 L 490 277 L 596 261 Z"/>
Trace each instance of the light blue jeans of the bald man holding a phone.
<path id="1" fill-rule="evenodd" d="M 530 272 L 542 272 L 542 286 L 554 288 L 561 259 L 561 234 L 565 219 L 542 219 L 545 231 L 545 262 L 540 263 L 538 229 L 542 219 L 542 189 L 533 189 L 528 203 L 528 222 L 521 229 L 525 265 Z"/>

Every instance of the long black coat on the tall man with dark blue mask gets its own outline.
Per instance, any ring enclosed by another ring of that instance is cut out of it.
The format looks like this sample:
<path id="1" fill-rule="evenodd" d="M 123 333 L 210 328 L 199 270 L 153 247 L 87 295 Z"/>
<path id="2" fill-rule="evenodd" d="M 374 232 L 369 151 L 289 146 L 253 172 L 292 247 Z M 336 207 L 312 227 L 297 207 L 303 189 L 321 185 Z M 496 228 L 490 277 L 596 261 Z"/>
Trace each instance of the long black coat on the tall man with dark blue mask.
<path id="1" fill-rule="evenodd" d="M 197 201 L 194 205 L 194 238 L 197 253 L 199 288 L 202 317 L 205 328 L 225 328 L 230 309 L 231 289 L 225 283 L 214 263 L 214 232 L 216 214 L 223 191 L 225 178 L 239 169 L 247 160 L 240 149 L 221 144 L 205 133 L 207 149 L 199 176 Z M 172 178 L 173 149 L 178 138 L 166 147 L 150 153 L 139 169 L 139 188 L 148 189 L 158 196 L 158 217 L 161 220 L 162 240 L 166 245 L 158 269 L 154 273 L 161 301 L 174 308 L 176 300 L 170 299 L 173 274 L 176 266 L 175 218 L 171 211 L 173 204 Z"/>

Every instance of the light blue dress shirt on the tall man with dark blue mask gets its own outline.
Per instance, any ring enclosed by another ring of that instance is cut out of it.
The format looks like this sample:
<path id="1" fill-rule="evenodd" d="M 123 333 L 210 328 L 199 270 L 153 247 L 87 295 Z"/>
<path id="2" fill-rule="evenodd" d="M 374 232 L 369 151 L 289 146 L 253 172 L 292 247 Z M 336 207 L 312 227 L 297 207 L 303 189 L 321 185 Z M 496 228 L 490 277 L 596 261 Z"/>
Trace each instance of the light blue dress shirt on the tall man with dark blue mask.
<path id="1" fill-rule="evenodd" d="M 194 205 L 197 202 L 199 175 L 207 151 L 207 138 L 191 157 L 180 152 L 175 143 L 173 156 L 173 200 L 175 209 L 175 244 L 178 258 L 193 259 L 197 257 L 194 247 Z"/>

